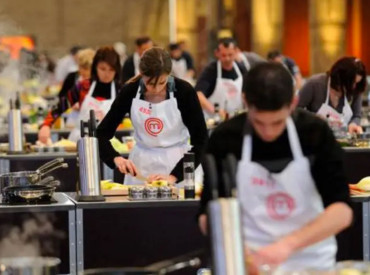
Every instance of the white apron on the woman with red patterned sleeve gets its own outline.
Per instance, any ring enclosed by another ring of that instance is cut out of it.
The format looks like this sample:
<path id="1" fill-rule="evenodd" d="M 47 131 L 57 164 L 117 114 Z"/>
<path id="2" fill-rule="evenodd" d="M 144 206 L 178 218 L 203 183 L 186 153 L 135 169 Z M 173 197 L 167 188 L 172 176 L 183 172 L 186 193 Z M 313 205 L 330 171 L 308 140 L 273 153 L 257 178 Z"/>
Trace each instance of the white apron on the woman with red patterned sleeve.
<path id="1" fill-rule="evenodd" d="M 81 107 L 80 112 L 78 116 L 78 123 L 76 124 L 76 127 L 73 128 L 71 133 L 69 134 L 68 139 L 74 142 L 77 142 L 81 137 L 81 131 L 80 131 L 80 121 L 88 121 L 90 119 L 90 110 L 95 111 L 103 111 L 106 115 L 110 109 L 110 106 L 112 105 L 115 97 L 116 97 L 116 86 L 114 85 L 114 81 L 111 83 L 111 89 L 110 89 L 110 99 L 99 101 L 96 98 L 92 97 L 92 93 L 94 92 L 96 86 L 96 81 L 91 83 L 89 92 L 86 94 Z"/>

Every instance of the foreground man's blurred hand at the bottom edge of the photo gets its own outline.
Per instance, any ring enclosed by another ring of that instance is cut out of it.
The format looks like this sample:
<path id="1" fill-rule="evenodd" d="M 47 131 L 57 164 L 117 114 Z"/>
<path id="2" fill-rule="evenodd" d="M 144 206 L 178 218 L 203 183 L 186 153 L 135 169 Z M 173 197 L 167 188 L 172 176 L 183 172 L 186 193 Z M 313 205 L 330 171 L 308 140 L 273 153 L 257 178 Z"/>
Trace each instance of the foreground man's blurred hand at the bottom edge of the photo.
<path id="1" fill-rule="evenodd" d="M 277 266 L 285 262 L 293 252 L 288 242 L 281 240 L 264 246 L 252 253 L 252 261 L 256 266 L 265 264 Z"/>

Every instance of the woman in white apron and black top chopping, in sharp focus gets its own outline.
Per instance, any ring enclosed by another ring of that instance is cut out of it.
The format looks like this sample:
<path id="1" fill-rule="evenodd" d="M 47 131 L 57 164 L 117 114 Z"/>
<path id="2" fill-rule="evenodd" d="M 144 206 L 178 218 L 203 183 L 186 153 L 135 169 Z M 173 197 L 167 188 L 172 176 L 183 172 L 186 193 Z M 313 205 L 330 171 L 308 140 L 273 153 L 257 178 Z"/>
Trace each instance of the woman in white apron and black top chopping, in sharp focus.
<path id="1" fill-rule="evenodd" d="M 143 177 L 148 181 L 181 181 L 182 159 L 190 150 L 195 153 L 195 165 L 200 162 L 207 139 L 202 110 L 194 89 L 169 76 L 171 69 L 172 61 L 165 50 L 152 48 L 144 52 L 141 75 L 122 88 L 98 127 L 101 159 L 125 174 L 125 184 L 143 184 Z M 127 113 L 136 141 L 129 159 L 121 157 L 109 143 Z"/>

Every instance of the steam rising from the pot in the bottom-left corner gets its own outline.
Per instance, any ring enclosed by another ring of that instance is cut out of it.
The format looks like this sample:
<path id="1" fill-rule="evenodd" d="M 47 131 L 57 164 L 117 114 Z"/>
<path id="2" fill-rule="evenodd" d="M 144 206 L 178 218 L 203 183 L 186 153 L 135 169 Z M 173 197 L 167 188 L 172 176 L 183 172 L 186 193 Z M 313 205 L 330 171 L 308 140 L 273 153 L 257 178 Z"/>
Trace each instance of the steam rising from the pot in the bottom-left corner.
<path id="1" fill-rule="evenodd" d="M 9 214 L 14 217 L 14 214 Z M 52 213 L 24 215 L 17 225 L 14 219 L 1 221 L 0 258 L 57 256 L 57 243 L 66 234 L 54 227 L 56 216 Z"/>

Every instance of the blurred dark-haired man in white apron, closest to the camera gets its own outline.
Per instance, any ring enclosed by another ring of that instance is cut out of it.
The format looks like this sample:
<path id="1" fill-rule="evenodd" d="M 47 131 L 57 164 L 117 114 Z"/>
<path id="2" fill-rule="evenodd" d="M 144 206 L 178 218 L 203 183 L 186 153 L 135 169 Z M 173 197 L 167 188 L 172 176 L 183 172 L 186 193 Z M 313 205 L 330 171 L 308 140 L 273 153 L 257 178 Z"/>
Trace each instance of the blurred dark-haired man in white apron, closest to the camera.
<path id="1" fill-rule="evenodd" d="M 293 81 L 282 66 L 257 65 L 244 83 L 248 114 L 215 130 L 208 152 L 217 163 L 230 153 L 240 160 L 237 194 L 250 274 L 265 264 L 329 270 L 337 251 L 334 235 L 352 220 L 341 149 L 322 120 L 293 112 Z M 201 212 L 209 200 L 207 186 Z M 205 215 L 199 223 L 205 232 Z"/>

